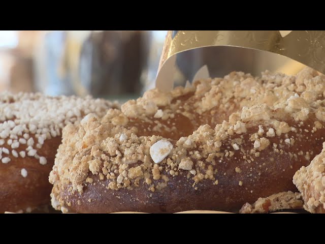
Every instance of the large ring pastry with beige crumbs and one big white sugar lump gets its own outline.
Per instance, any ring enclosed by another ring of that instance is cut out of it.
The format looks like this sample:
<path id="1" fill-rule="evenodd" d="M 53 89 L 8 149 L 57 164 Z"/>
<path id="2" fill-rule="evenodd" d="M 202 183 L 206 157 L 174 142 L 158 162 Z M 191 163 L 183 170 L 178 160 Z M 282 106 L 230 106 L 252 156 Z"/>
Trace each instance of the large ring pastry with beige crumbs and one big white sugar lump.
<path id="1" fill-rule="evenodd" d="M 233 72 L 63 130 L 52 205 L 63 212 L 236 210 L 296 191 L 321 151 L 325 78 Z M 158 142 L 158 143 L 157 143 Z"/>

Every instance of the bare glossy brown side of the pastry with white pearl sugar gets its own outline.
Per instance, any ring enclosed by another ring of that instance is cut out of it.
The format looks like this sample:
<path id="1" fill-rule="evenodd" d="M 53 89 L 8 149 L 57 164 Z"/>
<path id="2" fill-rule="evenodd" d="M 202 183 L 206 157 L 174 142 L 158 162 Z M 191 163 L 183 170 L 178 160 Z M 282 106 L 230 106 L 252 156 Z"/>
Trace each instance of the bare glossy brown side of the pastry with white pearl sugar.
<path id="1" fill-rule="evenodd" d="M 46 165 L 41 165 L 39 160 L 31 157 L 0 165 L 0 212 L 31 211 L 36 206 L 49 203 L 51 184 L 48 175 L 53 167 L 55 148 L 60 143 L 61 137 L 44 143 L 40 155 L 48 160 Z M 21 175 L 22 168 L 28 172 L 25 178 Z"/>

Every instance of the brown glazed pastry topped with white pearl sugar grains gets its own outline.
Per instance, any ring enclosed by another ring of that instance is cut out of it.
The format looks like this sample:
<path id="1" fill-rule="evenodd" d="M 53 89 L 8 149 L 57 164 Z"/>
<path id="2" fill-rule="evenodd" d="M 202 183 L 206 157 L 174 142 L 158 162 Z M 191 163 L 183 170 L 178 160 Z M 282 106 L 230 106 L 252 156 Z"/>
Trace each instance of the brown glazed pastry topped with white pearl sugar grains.
<path id="1" fill-rule="evenodd" d="M 0 94 L 0 212 L 48 204 L 62 128 L 88 113 L 104 116 L 111 107 L 117 104 L 91 97 Z"/>

